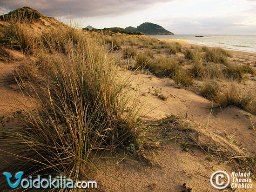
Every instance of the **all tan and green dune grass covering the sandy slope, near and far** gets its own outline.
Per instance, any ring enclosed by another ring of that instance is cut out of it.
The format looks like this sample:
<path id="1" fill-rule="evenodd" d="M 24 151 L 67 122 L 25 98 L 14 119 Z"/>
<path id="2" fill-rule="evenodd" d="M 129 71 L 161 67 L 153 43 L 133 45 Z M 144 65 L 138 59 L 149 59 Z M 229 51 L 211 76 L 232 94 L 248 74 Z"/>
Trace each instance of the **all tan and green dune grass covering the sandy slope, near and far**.
<path id="1" fill-rule="evenodd" d="M 33 10 L 23 16 L 30 20 L 42 17 Z M 150 123 L 141 125 L 143 105 L 130 86 L 131 76 L 120 70 L 129 64 L 132 66 L 128 69 L 147 70 L 150 75 L 170 78 L 180 88 L 200 89 L 203 97 L 218 106 L 233 105 L 256 114 L 255 94 L 241 88 L 247 73 L 253 75 L 255 71 L 249 65 L 230 62 L 231 54 L 224 49 L 188 48 L 137 33 L 96 33 L 96 29 L 88 32 L 64 24 L 34 33 L 31 22 L 20 18 L 0 17 L 9 22 L 0 26 L 0 60 L 12 60 L 12 49 L 23 54 L 23 63 L 13 74 L 22 93 L 34 105 L 17 112 L 17 129 L 4 130 L 5 136 L 1 138 L 7 142 L 6 152 L 17 157 L 10 162 L 10 171 L 22 168 L 27 170 L 27 176 L 56 173 L 74 181 L 89 179 L 90 172 L 98 168 L 95 158 L 104 150 L 108 154 L 131 152 L 146 159 L 146 149 L 154 147 L 154 139 L 169 136 L 173 131 L 179 133 L 175 139 L 182 141 L 182 145 L 187 145 L 185 139 L 189 138 L 191 145 L 214 154 L 216 150 L 221 152 L 220 146 L 212 145 L 211 137 L 207 137 L 211 145 L 190 137 L 190 131 L 207 136 L 209 132 L 188 129 L 191 126 L 184 119 L 173 116 L 156 127 Z M 149 93 L 164 101 L 171 97 L 154 86 Z M 222 149 L 222 157 L 233 162 L 236 156 L 228 150 L 230 146 Z M 249 165 L 239 152 L 232 152 L 240 155 L 240 159 L 236 157 L 239 165 L 245 161 L 244 165 Z"/>

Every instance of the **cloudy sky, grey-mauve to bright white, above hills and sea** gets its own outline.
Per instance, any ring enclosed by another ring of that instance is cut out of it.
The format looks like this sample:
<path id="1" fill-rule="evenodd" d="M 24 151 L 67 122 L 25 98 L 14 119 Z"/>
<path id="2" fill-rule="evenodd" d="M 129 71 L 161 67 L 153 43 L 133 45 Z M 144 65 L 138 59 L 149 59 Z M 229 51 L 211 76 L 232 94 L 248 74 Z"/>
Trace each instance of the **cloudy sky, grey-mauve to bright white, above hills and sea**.
<path id="1" fill-rule="evenodd" d="M 1 0 L 0 11 L 38 9 L 69 15 L 82 26 L 139 26 L 152 22 L 175 34 L 254 34 L 256 0 Z M 2 14 L 1 13 L 1 14 Z"/>

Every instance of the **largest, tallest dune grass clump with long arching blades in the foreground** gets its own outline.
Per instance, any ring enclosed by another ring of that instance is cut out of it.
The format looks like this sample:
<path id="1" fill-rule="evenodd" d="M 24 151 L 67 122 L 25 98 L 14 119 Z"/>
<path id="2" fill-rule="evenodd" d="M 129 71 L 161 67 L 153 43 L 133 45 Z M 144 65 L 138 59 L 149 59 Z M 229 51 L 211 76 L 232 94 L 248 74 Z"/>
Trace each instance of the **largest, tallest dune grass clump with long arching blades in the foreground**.
<path id="1" fill-rule="evenodd" d="M 51 49 L 55 57 L 47 83 L 34 89 L 37 97 L 31 100 L 37 101 L 20 115 L 19 129 L 7 132 L 5 145 L 18 161 L 14 158 L 8 171 L 19 167 L 25 175 L 61 174 L 75 182 L 88 178 L 100 151 L 136 152 L 145 145 L 130 81 L 95 37 L 79 39 L 63 44 L 67 54 L 58 46 Z"/>

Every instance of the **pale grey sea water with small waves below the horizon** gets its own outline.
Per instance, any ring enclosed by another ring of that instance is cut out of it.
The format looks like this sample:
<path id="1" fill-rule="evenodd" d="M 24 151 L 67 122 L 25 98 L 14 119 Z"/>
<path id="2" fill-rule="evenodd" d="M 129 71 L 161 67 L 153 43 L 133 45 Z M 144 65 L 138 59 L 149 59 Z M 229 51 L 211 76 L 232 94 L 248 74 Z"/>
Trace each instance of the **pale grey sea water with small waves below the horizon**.
<path id="1" fill-rule="evenodd" d="M 256 53 L 256 35 L 147 35 L 155 38 L 186 40 L 196 45 L 222 47 Z M 204 37 L 195 37 L 204 36 Z"/>

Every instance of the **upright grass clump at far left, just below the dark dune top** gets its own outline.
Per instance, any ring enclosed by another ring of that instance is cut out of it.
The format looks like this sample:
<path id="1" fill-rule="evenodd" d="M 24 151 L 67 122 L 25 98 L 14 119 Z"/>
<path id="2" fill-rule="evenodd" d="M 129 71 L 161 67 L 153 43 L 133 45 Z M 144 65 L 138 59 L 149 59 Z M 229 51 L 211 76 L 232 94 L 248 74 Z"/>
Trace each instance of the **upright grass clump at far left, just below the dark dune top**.
<path id="1" fill-rule="evenodd" d="M 26 22 L 12 19 L 8 26 L 0 27 L 0 44 L 23 53 L 32 53 L 35 47 L 35 35 Z"/>

